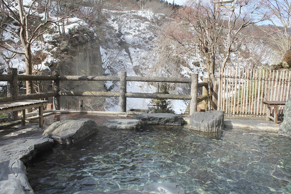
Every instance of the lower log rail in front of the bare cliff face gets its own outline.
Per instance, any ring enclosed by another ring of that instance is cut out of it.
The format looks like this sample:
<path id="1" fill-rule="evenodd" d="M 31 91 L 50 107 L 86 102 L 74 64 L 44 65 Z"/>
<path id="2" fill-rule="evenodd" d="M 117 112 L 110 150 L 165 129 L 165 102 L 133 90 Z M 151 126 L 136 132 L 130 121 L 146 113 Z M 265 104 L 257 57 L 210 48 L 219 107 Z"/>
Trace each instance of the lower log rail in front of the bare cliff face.
<path id="1" fill-rule="evenodd" d="M 96 97 L 119 97 L 119 92 L 101 91 L 59 91 L 60 96 L 96 96 Z"/>

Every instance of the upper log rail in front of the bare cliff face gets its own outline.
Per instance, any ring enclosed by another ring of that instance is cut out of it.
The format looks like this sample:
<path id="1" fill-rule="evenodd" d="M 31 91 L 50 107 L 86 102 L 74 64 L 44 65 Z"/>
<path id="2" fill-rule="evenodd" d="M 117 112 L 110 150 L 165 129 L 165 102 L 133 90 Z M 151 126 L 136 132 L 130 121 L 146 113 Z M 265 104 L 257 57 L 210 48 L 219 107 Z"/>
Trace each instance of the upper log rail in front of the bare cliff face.
<path id="1" fill-rule="evenodd" d="M 118 76 L 78 76 L 78 75 L 65 75 L 58 77 L 60 81 L 119 81 Z"/>

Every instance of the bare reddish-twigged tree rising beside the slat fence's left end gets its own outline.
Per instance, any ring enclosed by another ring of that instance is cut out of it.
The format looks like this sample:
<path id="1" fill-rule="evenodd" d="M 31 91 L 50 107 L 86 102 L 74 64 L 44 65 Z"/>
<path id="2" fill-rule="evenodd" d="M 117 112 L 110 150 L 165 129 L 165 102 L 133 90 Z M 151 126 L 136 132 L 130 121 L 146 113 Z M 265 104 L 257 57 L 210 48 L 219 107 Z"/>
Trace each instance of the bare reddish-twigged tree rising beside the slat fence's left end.
<path id="1" fill-rule="evenodd" d="M 176 51 L 199 61 L 207 70 L 213 88 L 214 109 L 218 90 L 215 70 L 221 67 L 222 73 L 230 54 L 255 38 L 252 34 L 243 36 L 244 30 L 266 18 L 266 15 L 259 15 L 260 2 L 237 0 L 231 6 L 221 2 L 188 3 L 178 10 L 176 21 L 168 24 L 165 32 L 166 37 L 177 43 Z"/>

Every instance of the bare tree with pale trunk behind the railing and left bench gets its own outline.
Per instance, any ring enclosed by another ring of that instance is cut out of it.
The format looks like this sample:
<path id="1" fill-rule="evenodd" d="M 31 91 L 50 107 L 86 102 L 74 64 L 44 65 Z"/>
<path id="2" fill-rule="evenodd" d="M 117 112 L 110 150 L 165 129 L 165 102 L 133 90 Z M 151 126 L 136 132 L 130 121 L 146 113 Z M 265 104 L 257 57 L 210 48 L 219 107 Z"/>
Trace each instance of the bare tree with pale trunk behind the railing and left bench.
<path id="1" fill-rule="evenodd" d="M 2 23 L 0 29 L 19 38 L 23 47 L 23 51 L 15 47 L 15 45 L 7 43 L 6 41 L 3 41 L 0 46 L 13 53 L 14 56 L 15 54 L 22 54 L 25 56 L 25 73 L 27 75 L 31 75 L 33 71 L 33 54 L 31 52 L 32 44 L 35 43 L 36 40 L 44 33 L 47 33 L 50 30 L 48 27 L 49 24 L 56 24 L 57 26 L 60 26 L 61 22 L 65 21 L 65 19 L 71 17 L 73 14 L 73 11 L 71 11 L 65 16 L 57 17 L 57 19 L 49 19 L 49 5 L 49 0 L 42 0 L 38 2 L 33 0 L 29 5 L 25 6 L 22 0 L 1 0 L 0 11 L 1 13 L 5 13 L 7 22 Z M 40 9 L 42 9 L 42 11 L 40 11 Z M 44 14 L 43 17 L 40 16 L 40 12 Z M 14 25 L 18 29 L 11 30 L 7 28 L 9 22 L 14 22 Z M 70 22 L 67 22 L 66 24 L 68 25 Z M 26 94 L 32 93 L 33 82 L 26 81 Z"/>

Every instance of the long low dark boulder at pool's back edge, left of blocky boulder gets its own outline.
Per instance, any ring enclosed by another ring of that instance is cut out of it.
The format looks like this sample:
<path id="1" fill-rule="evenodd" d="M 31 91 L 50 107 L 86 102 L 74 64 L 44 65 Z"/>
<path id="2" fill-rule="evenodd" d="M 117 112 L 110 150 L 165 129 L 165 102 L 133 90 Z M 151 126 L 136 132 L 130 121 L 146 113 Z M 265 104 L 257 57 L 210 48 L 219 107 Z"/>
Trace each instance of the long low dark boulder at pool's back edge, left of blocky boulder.
<path id="1" fill-rule="evenodd" d="M 148 125 L 181 126 L 187 123 L 183 117 L 171 113 L 140 114 L 132 116 L 132 119 L 139 119 Z"/>

